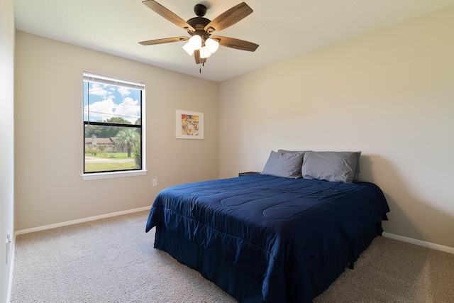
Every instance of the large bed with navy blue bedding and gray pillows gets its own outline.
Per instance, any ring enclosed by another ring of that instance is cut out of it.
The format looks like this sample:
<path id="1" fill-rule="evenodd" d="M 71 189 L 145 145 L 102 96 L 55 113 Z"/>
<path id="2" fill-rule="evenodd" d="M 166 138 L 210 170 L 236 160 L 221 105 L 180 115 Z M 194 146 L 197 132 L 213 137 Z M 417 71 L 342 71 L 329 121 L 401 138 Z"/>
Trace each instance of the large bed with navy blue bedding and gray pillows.
<path id="1" fill-rule="evenodd" d="M 358 154 L 342 182 L 304 169 L 307 153 L 277 153 L 298 158 L 296 177 L 281 173 L 287 158 L 270 170 L 270 155 L 260 174 L 163 189 L 145 231 L 239 302 L 312 302 L 381 235 L 389 207 L 376 184 L 353 182 Z"/>

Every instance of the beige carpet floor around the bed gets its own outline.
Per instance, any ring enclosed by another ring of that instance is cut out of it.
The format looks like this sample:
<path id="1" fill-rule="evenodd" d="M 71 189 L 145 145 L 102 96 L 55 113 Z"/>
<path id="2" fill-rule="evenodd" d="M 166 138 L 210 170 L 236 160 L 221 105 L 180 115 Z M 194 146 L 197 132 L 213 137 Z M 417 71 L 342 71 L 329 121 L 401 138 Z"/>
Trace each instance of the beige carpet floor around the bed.
<path id="1" fill-rule="evenodd" d="M 236 302 L 154 249 L 147 215 L 17 236 L 11 302 Z M 454 302 L 454 255 L 378 237 L 314 302 Z"/>

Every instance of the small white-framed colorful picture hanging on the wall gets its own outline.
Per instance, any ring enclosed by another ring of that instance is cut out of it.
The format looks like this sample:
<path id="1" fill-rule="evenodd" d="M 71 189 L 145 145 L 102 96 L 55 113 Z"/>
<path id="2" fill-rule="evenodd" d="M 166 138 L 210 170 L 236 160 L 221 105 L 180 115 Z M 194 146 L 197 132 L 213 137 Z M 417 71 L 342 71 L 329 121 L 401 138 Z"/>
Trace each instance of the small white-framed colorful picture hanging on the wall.
<path id="1" fill-rule="evenodd" d="M 203 139 L 204 113 L 177 109 L 175 111 L 175 138 Z"/>

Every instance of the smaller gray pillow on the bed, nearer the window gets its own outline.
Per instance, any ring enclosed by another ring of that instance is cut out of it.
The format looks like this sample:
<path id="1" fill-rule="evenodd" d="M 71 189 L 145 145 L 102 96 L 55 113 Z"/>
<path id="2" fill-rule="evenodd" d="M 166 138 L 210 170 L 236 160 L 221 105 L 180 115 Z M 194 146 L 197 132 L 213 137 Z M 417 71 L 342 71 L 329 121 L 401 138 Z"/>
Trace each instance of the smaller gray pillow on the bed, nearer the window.
<path id="1" fill-rule="evenodd" d="M 294 179 L 301 178 L 303 155 L 303 153 L 276 153 L 272 150 L 262 174 Z"/>

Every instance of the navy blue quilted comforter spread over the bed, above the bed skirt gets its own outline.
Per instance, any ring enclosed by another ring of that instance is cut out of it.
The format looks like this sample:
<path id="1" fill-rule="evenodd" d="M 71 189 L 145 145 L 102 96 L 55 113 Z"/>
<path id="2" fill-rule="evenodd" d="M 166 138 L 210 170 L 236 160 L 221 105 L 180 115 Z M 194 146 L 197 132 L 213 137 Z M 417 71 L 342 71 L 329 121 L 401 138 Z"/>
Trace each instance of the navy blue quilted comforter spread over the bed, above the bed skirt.
<path id="1" fill-rule="evenodd" d="M 321 268 L 388 211 L 372 183 L 251 175 L 162 190 L 146 231 L 164 226 L 260 277 L 265 302 L 311 302 Z"/>

